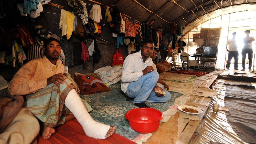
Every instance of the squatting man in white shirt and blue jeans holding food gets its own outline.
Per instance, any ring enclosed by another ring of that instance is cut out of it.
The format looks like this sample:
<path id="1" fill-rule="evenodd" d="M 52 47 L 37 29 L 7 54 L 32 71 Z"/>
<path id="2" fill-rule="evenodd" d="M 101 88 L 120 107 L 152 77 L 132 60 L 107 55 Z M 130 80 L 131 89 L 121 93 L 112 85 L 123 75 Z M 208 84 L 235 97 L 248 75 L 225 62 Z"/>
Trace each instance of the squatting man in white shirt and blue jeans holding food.
<path id="1" fill-rule="evenodd" d="M 125 58 L 122 72 L 122 91 L 130 98 L 133 104 L 143 108 L 148 107 L 144 102 L 167 102 L 170 93 L 157 86 L 159 74 L 154 71 L 150 56 L 154 50 L 154 41 L 145 40 L 139 52 L 130 54 Z M 155 92 L 162 90 L 166 95 Z"/>

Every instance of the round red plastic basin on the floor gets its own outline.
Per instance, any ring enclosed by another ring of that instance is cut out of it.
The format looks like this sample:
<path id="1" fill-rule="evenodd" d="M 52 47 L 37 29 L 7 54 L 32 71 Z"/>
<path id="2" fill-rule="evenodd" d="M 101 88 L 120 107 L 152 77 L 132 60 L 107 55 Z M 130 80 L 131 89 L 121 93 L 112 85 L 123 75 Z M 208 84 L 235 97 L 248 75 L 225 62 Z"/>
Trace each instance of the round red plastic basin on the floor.
<path id="1" fill-rule="evenodd" d="M 155 132 L 163 119 L 161 111 L 153 108 L 136 108 L 126 112 L 131 128 L 139 133 L 147 134 Z"/>

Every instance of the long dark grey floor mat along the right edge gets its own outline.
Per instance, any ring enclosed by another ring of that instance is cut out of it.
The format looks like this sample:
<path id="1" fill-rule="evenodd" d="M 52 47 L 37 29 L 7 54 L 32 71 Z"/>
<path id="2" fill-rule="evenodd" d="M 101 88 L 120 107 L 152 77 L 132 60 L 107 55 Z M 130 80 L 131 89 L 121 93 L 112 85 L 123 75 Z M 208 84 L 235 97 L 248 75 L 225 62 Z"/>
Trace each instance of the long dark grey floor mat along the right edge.
<path id="1" fill-rule="evenodd" d="M 241 140 L 256 143 L 256 89 L 248 83 L 239 83 L 233 86 L 225 82 L 225 106 L 229 108 L 226 116 Z"/>

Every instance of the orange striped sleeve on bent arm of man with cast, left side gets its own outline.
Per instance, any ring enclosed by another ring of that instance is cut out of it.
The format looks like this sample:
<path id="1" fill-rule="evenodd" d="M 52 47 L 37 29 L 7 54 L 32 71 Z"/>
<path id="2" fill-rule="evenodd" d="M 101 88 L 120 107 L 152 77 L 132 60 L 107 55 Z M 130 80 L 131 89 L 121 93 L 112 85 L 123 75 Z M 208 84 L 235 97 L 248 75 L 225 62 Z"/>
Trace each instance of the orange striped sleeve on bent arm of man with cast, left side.
<path id="1" fill-rule="evenodd" d="M 40 80 L 32 79 L 36 66 L 36 63 L 27 63 L 27 65 L 20 68 L 9 83 L 8 93 L 10 95 L 31 94 L 47 86 L 47 78 Z"/>

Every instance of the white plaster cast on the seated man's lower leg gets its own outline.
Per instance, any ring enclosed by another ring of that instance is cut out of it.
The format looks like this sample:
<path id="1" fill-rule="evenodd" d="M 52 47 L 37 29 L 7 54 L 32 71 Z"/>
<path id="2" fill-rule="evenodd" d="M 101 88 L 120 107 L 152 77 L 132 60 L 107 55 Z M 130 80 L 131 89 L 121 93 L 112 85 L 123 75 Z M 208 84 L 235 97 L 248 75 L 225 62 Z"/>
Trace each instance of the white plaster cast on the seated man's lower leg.
<path id="1" fill-rule="evenodd" d="M 110 129 L 110 126 L 93 120 L 75 89 L 72 89 L 68 93 L 65 100 L 65 105 L 82 125 L 87 136 L 99 139 L 106 138 L 105 136 Z"/>

